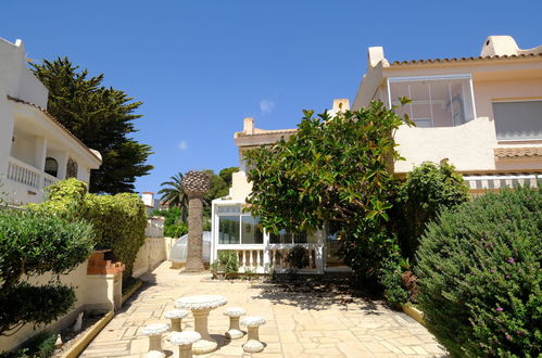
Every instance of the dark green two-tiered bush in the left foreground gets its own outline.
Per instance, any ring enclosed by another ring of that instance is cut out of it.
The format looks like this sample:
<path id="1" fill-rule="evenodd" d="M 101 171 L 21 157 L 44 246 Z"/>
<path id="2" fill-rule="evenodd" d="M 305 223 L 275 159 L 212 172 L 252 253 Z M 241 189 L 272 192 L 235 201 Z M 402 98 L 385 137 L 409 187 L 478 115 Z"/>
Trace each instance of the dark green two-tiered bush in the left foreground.
<path id="1" fill-rule="evenodd" d="M 26 323 L 50 323 L 70 311 L 75 293 L 59 274 L 87 259 L 92 238 L 91 225 L 80 219 L 0 209 L 0 334 L 12 335 Z M 45 285 L 26 282 L 47 272 L 52 276 Z"/>

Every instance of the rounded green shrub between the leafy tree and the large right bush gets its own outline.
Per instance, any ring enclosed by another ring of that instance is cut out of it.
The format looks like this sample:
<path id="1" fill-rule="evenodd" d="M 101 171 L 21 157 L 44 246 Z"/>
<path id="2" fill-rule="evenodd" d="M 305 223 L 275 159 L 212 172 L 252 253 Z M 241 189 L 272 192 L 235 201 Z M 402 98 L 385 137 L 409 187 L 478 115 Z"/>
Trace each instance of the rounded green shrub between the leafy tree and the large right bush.
<path id="1" fill-rule="evenodd" d="M 408 172 L 399 188 L 393 208 L 396 217 L 394 231 L 403 256 L 411 260 L 415 258 L 419 238 L 439 210 L 468 200 L 468 187 L 463 176 L 448 161 L 440 165 L 426 162 Z"/>

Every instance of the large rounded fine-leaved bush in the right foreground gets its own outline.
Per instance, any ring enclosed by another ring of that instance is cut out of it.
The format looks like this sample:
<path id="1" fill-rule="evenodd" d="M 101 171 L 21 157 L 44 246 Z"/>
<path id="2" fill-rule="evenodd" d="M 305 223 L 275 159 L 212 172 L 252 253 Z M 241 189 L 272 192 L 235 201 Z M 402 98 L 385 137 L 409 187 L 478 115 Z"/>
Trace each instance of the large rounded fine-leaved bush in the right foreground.
<path id="1" fill-rule="evenodd" d="M 542 188 L 487 194 L 428 226 L 418 302 L 454 356 L 539 357 L 541 229 Z"/>

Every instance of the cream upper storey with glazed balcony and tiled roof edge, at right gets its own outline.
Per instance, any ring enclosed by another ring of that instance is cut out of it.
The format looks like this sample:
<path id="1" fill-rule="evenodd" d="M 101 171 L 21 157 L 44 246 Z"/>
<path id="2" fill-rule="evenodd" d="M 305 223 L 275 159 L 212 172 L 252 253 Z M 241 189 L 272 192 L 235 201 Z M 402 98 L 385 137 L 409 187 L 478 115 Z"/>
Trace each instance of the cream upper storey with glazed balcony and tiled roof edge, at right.
<path id="1" fill-rule="evenodd" d="M 542 46 L 519 49 L 509 36 L 490 36 L 479 56 L 389 62 L 368 49 L 367 72 L 353 108 L 380 100 L 416 127 L 395 135 L 395 174 L 448 158 L 471 193 L 518 183 L 542 174 Z"/>

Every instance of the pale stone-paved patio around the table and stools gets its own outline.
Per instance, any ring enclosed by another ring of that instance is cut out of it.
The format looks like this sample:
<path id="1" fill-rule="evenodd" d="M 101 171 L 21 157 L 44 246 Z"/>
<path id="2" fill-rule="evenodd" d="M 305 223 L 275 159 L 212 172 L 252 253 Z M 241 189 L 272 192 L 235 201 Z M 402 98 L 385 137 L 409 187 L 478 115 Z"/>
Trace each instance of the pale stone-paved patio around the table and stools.
<path id="1" fill-rule="evenodd" d="M 228 306 L 244 307 L 248 315 L 267 319 L 260 329 L 266 344 L 254 357 L 443 357 L 429 332 L 403 312 L 392 311 L 379 302 L 323 292 L 285 292 L 262 282 L 209 282 L 209 273 L 189 274 L 169 269 L 163 263 L 143 279 L 143 290 L 130 298 L 81 357 L 143 357 L 148 338 L 141 335 L 146 324 L 168 322 L 164 311 L 177 297 L 193 294 L 220 294 Z M 228 318 L 224 307 L 211 311 L 209 331 L 219 342 L 211 357 L 243 355 L 245 338 L 228 341 L 224 332 Z M 193 330 L 191 315 L 184 330 Z M 177 347 L 163 341 L 169 357 L 178 357 Z M 199 356 L 203 357 L 203 356 Z"/>

